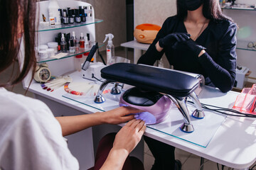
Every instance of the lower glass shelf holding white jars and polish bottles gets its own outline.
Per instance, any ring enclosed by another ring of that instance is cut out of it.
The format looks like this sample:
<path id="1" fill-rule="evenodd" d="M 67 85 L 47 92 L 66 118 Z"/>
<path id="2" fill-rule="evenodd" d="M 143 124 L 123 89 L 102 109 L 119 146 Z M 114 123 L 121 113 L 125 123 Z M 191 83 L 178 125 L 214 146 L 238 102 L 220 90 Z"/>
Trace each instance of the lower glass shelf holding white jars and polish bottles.
<path id="1" fill-rule="evenodd" d="M 93 42 L 92 45 L 95 45 L 96 42 Z M 103 47 L 105 44 L 104 43 L 100 43 L 98 42 L 98 46 L 99 47 Z M 51 61 L 54 61 L 54 60 L 62 60 L 62 59 L 65 59 L 65 58 L 68 58 L 68 57 L 73 57 L 75 55 L 82 55 L 84 54 L 85 52 L 90 52 L 91 48 L 90 49 L 80 49 L 78 51 L 76 51 L 75 53 L 70 53 L 70 52 L 63 52 L 63 53 L 68 53 L 68 55 L 65 55 L 65 57 L 61 57 L 61 58 L 53 58 L 53 57 L 48 57 L 46 59 L 37 59 L 37 63 L 42 63 L 42 62 L 51 62 Z M 58 55 L 60 52 L 58 52 L 56 55 Z"/>

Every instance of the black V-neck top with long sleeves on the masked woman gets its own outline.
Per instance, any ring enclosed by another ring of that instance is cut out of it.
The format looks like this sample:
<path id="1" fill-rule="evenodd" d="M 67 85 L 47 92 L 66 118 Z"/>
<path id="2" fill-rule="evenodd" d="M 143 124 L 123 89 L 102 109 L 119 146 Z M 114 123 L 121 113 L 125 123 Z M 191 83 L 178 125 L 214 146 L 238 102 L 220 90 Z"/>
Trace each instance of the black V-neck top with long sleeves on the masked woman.
<path id="1" fill-rule="evenodd" d="M 231 21 L 210 20 L 207 28 L 196 39 L 198 45 L 206 47 L 206 53 L 201 57 L 194 55 L 183 42 L 176 42 L 158 52 L 155 45 L 159 39 L 171 33 L 187 33 L 183 21 L 177 16 L 171 16 L 164 21 L 154 42 L 139 58 L 138 64 L 153 65 L 165 53 L 174 69 L 202 74 L 206 79 L 206 85 L 218 87 L 225 93 L 230 91 L 235 83 L 236 32 L 237 26 Z"/>

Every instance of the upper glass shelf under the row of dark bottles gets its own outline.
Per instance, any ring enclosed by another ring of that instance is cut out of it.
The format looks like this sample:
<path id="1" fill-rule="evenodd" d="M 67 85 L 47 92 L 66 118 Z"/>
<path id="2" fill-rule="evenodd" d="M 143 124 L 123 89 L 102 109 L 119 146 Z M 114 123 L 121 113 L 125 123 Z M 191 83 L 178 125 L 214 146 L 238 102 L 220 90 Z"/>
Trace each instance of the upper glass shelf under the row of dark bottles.
<path id="1" fill-rule="evenodd" d="M 102 19 L 95 19 L 95 21 L 86 21 L 86 22 L 81 22 L 81 23 L 73 23 L 73 24 L 60 24 L 60 25 L 55 25 L 55 26 L 39 26 L 37 32 L 43 32 L 43 31 L 48 31 L 48 30 L 61 30 L 61 29 L 67 29 L 67 28 L 75 28 L 75 27 L 80 27 L 80 26 L 87 26 L 90 24 L 94 23 L 101 23 L 103 20 Z"/>

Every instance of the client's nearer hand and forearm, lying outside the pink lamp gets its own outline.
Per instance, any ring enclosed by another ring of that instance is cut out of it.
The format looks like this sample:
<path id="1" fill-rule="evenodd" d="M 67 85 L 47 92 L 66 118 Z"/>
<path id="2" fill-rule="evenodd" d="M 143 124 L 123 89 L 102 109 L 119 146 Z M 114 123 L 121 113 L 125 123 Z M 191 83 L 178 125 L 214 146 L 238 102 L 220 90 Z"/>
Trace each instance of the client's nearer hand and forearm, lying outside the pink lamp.
<path id="1" fill-rule="evenodd" d="M 146 125 L 142 120 L 133 119 L 127 125 L 124 125 L 117 133 L 113 147 L 101 169 L 122 169 L 125 159 L 142 139 L 145 130 Z"/>

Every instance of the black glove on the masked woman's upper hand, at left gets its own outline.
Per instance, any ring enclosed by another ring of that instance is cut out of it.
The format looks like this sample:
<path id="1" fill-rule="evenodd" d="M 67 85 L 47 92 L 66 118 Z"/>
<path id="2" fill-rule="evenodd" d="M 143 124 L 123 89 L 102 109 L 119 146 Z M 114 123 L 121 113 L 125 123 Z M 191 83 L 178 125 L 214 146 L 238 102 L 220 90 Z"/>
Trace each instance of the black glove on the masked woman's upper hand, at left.
<path id="1" fill-rule="evenodd" d="M 187 33 L 171 33 L 159 39 L 159 46 L 164 48 L 174 45 L 175 42 L 185 42 L 188 39 L 189 35 Z"/>

